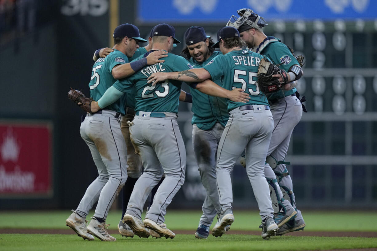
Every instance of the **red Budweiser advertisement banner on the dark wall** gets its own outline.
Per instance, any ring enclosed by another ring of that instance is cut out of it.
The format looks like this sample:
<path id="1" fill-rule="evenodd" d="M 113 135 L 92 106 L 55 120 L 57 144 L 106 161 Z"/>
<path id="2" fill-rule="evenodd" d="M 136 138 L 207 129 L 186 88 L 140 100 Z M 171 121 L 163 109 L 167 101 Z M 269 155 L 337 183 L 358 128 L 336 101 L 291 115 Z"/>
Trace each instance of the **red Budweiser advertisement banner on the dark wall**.
<path id="1" fill-rule="evenodd" d="M 52 123 L 0 121 L 0 197 L 50 197 Z"/>

